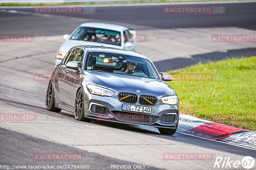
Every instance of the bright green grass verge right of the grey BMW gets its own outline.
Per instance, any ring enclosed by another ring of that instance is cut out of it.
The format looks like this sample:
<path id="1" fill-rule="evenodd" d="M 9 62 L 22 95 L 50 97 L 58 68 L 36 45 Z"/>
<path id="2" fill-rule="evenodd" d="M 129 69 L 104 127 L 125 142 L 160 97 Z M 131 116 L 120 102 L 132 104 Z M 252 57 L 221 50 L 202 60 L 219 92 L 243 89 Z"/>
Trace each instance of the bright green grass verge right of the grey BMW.
<path id="1" fill-rule="evenodd" d="M 256 131 L 256 57 L 197 64 L 169 74 L 211 74 L 210 81 L 170 81 L 180 111 Z"/>

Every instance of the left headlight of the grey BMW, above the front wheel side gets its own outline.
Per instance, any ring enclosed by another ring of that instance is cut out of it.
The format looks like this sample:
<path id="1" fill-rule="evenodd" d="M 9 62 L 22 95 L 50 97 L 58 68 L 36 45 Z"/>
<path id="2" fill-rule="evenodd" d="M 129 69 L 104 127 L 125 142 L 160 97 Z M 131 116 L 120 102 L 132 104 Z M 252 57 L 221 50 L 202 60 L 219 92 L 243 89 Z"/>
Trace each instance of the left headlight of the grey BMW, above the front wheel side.
<path id="1" fill-rule="evenodd" d="M 112 97 L 115 94 L 115 92 L 112 90 L 96 86 L 93 84 L 88 84 L 86 87 L 88 91 L 93 95 Z"/>

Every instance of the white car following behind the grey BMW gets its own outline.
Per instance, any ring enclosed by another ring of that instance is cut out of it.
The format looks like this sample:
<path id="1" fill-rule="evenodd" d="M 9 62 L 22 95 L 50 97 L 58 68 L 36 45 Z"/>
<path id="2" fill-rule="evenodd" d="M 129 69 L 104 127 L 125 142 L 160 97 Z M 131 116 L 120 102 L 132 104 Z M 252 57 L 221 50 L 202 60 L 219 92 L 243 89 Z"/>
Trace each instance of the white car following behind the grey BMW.
<path id="1" fill-rule="evenodd" d="M 71 35 L 65 34 L 63 38 L 67 41 L 57 50 L 55 66 L 60 64 L 70 48 L 78 45 L 106 46 L 135 52 L 138 46 L 135 30 L 107 23 L 87 22 L 81 24 Z"/>

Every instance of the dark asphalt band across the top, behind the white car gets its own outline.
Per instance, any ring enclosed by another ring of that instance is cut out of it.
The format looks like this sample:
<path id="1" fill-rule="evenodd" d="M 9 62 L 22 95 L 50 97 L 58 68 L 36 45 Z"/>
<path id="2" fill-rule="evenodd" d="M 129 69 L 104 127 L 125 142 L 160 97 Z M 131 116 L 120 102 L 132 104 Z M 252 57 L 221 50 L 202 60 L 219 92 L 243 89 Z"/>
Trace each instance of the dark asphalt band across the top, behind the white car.
<path id="1" fill-rule="evenodd" d="M 224 14 L 165 14 L 163 7 L 156 6 L 118 6 L 95 7 L 94 14 L 58 14 L 63 18 L 0 12 L 1 34 L 16 32 L 33 36 L 70 34 L 85 21 L 119 23 L 132 29 L 170 29 L 188 27 L 226 27 L 236 26 L 256 30 L 256 3 L 204 4 L 201 6 L 223 6 Z M 186 5 L 173 5 L 186 6 Z M 188 5 L 199 6 L 199 5 Z M 33 13 L 33 8 L 12 9 Z M 72 19 L 68 18 L 72 17 Z M 75 19 L 77 18 L 77 19 Z M 79 19 L 78 19 L 79 18 Z"/>

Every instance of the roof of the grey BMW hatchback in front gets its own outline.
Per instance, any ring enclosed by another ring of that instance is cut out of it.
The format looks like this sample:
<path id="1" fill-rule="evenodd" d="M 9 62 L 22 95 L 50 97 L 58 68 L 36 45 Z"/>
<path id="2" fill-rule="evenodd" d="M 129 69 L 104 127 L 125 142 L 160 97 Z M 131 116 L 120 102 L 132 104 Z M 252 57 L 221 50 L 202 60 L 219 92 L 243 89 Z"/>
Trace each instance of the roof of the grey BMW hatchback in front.
<path id="1" fill-rule="evenodd" d="M 119 48 L 112 48 L 112 47 L 104 47 L 104 46 L 76 46 L 76 47 L 83 47 L 88 49 L 89 52 L 104 52 L 104 53 L 116 53 L 116 54 L 123 54 L 123 55 L 131 55 L 134 57 L 142 58 L 148 60 L 148 57 L 144 54 L 129 51 L 129 50 L 124 50 L 124 49 L 119 49 Z M 73 48 L 76 48 L 73 47 Z"/>

